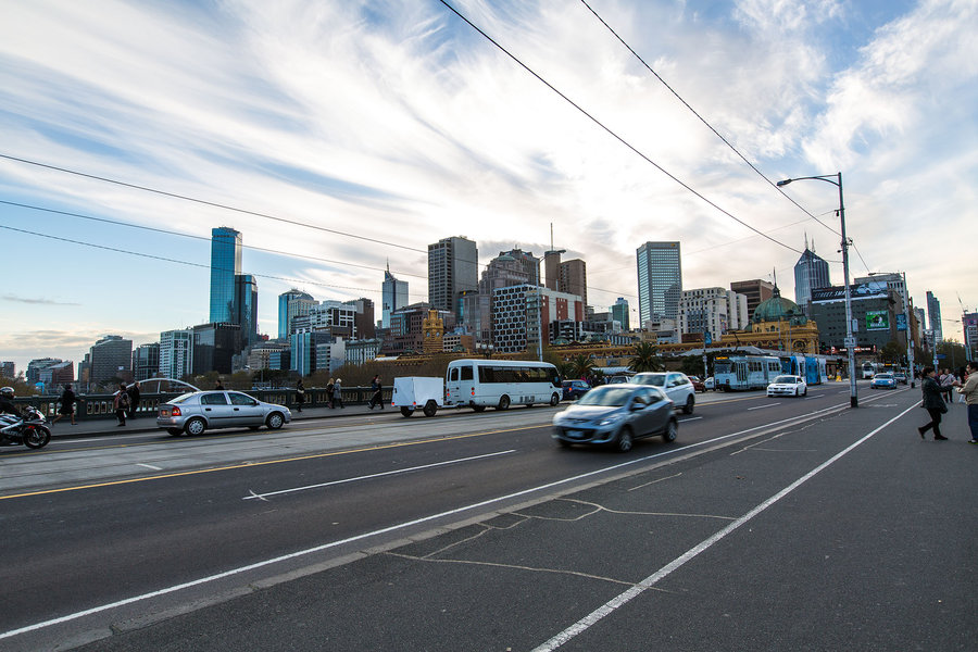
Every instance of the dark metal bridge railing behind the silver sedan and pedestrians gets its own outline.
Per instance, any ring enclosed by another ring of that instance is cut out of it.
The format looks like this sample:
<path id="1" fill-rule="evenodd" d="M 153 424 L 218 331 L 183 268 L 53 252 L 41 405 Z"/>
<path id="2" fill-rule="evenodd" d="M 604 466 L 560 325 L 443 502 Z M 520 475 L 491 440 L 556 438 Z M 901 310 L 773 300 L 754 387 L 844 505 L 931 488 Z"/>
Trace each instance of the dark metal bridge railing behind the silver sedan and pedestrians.
<path id="1" fill-rule="evenodd" d="M 250 397 L 258 399 L 259 401 L 264 401 L 266 403 L 278 403 L 279 405 L 285 405 L 290 410 L 294 410 L 298 403 L 296 402 L 296 389 L 294 388 L 279 388 L 279 389 L 242 389 L 242 390 L 229 390 L 229 391 L 241 391 L 247 393 Z M 163 392 L 163 393 L 148 393 L 142 392 L 139 394 L 139 405 L 136 406 L 136 415 L 137 416 L 155 416 L 156 411 L 161 403 L 165 403 L 171 399 L 175 399 L 178 396 L 181 396 L 185 392 Z M 344 387 L 342 389 L 342 401 L 344 405 L 359 405 L 365 404 L 371 400 L 373 391 L 369 387 Z M 386 402 L 390 402 L 391 399 L 391 388 L 385 387 L 381 397 Z M 61 402 L 58 400 L 59 397 L 50 396 L 50 397 L 17 397 L 14 399 L 14 403 L 17 405 L 34 405 L 37 408 L 41 414 L 47 416 L 49 419 L 54 418 L 61 412 Z M 75 419 L 98 419 L 98 418 L 115 418 L 115 408 L 114 405 L 115 393 L 101 393 L 101 394 L 76 394 L 75 399 Z M 326 393 L 326 388 L 324 387 L 312 387 L 306 388 L 305 390 L 305 402 L 302 404 L 303 409 L 310 408 L 327 408 L 329 405 L 329 398 Z"/>

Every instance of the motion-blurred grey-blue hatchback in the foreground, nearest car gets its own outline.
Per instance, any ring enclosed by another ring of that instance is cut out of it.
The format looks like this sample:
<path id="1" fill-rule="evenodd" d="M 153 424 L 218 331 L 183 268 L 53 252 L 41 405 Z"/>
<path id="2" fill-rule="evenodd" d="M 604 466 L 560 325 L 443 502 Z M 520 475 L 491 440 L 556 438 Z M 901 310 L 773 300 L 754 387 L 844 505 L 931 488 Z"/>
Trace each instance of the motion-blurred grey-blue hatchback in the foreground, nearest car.
<path id="1" fill-rule="evenodd" d="M 673 401 L 657 387 L 648 385 L 595 387 L 553 417 L 553 438 L 564 447 L 598 443 L 628 452 L 641 437 L 661 435 L 672 442 L 678 434 Z"/>

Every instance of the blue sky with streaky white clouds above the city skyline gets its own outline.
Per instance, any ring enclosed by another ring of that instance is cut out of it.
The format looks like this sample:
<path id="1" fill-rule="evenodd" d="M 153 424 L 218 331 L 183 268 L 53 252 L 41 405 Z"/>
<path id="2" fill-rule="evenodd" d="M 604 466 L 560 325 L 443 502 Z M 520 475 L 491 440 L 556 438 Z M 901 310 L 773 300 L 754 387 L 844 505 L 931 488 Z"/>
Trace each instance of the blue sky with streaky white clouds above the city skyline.
<path id="1" fill-rule="evenodd" d="M 0 0 L 0 360 L 206 322 L 217 226 L 273 336 L 291 287 L 426 300 L 450 236 L 485 265 L 552 229 L 599 311 L 638 316 L 650 240 L 685 289 L 793 299 L 805 242 L 842 283 L 839 192 L 774 183 L 839 172 L 852 276 L 961 341 L 975 34 L 978 0 Z"/>

